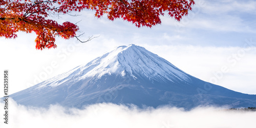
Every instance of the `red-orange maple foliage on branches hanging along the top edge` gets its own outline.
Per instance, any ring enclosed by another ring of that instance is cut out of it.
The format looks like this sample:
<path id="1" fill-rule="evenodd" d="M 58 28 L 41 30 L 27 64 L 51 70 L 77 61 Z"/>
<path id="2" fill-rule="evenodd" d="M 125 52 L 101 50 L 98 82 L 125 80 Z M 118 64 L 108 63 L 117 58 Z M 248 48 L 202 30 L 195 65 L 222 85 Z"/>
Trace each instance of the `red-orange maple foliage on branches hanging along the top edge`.
<path id="1" fill-rule="evenodd" d="M 35 32 L 36 49 L 56 48 L 56 36 L 77 37 L 79 28 L 70 22 L 60 25 L 49 19 L 51 15 L 90 9 L 98 18 L 107 14 L 110 20 L 122 18 L 137 27 L 152 27 L 161 24 L 164 12 L 180 21 L 194 4 L 194 0 L 0 0 L 0 37 Z"/>

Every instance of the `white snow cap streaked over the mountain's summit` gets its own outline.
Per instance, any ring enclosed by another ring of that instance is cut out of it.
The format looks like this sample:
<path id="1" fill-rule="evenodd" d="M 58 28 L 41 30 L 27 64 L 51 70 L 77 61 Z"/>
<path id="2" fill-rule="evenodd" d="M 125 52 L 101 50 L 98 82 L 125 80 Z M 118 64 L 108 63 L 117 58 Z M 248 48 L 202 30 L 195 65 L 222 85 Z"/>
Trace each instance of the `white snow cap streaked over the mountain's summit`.
<path id="1" fill-rule="evenodd" d="M 92 67 L 94 67 L 92 69 Z M 91 69 L 91 70 L 90 70 Z M 82 66 L 81 70 L 88 70 L 83 77 L 98 76 L 104 74 L 129 74 L 131 76 L 142 75 L 150 79 L 161 81 L 167 79 L 182 79 L 189 81 L 186 73 L 179 70 L 172 63 L 136 45 L 120 46 L 111 52 Z M 89 71 L 90 70 L 90 71 Z M 136 77 L 135 77 L 136 78 Z"/>

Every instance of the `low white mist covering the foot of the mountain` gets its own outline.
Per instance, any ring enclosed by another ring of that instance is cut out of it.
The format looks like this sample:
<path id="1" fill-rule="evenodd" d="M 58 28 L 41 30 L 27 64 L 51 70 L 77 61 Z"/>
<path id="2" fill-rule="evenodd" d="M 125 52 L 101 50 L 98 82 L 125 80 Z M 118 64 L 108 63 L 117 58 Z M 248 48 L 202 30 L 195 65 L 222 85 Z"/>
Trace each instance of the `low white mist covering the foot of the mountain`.
<path id="1" fill-rule="evenodd" d="M 0 103 L 4 108 L 3 101 Z M 2 117 L 4 109 L 0 111 Z M 30 108 L 9 100 L 9 124 L 0 127 L 252 127 L 256 112 L 231 112 L 224 108 L 196 108 L 191 111 L 162 107 L 128 108 L 111 103 L 93 104 L 82 110 L 52 105 Z"/>

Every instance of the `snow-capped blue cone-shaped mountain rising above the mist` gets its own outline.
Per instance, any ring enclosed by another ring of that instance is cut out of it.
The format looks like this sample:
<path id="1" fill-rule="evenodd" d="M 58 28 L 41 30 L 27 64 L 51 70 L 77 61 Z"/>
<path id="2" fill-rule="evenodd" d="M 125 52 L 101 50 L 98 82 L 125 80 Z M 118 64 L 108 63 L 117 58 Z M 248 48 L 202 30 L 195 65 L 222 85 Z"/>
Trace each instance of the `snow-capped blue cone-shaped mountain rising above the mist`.
<path id="1" fill-rule="evenodd" d="M 120 46 L 66 73 L 10 95 L 17 103 L 48 107 L 112 102 L 190 110 L 214 105 L 256 106 L 256 95 L 235 92 L 193 77 L 136 45 Z"/>

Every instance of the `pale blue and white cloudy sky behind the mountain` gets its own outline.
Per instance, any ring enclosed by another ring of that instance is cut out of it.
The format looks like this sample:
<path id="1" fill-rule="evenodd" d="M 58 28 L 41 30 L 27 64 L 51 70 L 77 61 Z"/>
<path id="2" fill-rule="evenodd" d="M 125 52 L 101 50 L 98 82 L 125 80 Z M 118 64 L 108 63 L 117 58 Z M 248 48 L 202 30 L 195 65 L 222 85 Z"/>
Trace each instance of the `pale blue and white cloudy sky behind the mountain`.
<path id="1" fill-rule="evenodd" d="M 97 19 L 93 11 L 79 14 L 56 20 L 81 20 L 78 26 L 84 35 L 80 39 L 100 35 L 98 38 L 84 44 L 75 38 L 57 38 L 56 49 L 43 51 L 35 49 L 34 33 L 0 38 L 1 71 L 10 71 L 10 93 L 69 71 L 115 47 L 135 44 L 202 80 L 256 94 L 255 1 L 196 1 L 180 23 L 165 15 L 162 24 L 152 28 L 136 28 L 122 19 L 112 22 L 106 16 Z"/>

